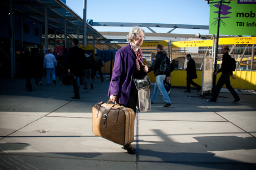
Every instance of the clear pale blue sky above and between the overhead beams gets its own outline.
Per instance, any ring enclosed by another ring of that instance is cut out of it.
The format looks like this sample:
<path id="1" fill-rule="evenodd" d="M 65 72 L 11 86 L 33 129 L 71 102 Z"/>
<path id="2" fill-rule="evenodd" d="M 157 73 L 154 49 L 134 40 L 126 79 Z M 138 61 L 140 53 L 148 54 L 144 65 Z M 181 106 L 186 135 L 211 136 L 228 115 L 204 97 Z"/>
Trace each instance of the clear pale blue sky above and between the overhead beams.
<path id="1" fill-rule="evenodd" d="M 161 3 L 160 3 L 161 2 Z M 66 0 L 83 18 L 83 0 Z M 86 19 L 93 22 L 209 25 L 209 4 L 203 0 L 87 0 Z M 129 27 L 94 27 L 99 32 L 129 32 Z M 152 28 L 166 33 L 170 28 Z M 150 30 L 145 29 L 145 32 Z M 171 33 L 208 34 L 208 30 L 175 29 Z"/>

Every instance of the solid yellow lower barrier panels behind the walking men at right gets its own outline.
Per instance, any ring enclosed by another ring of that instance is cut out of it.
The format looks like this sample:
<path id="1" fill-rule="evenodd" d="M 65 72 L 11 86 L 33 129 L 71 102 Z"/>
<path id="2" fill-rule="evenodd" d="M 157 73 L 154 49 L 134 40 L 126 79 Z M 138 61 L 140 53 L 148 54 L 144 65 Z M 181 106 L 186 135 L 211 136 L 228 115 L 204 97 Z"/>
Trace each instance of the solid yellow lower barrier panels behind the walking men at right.
<path id="1" fill-rule="evenodd" d="M 196 84 L 202 84 L 202 73 L 201 70 L 196 71 L 198 78 L 193 80 Z M 230 78 L 230 83 L 234 89 L 256 90 L 256 71 L 235 70 L 233 74 L 237 78 L 235 80 Z M 219 80 L 220 75 L 221 73 L 216 75 L 216 82 Z M 149 78 L 151 82 L 155 82 L 153 71 L 149 73 Z M 174 70 L 171 73 L 171 85 L 186 87 L 186 71 Z"/>

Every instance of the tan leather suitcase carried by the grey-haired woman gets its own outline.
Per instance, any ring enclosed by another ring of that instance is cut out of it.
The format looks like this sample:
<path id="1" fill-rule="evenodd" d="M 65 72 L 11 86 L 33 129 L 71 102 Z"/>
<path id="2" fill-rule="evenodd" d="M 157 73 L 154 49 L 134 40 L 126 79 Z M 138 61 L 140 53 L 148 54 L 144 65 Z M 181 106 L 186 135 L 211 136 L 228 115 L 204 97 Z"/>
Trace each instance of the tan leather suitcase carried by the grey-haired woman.
<path id="1" fill-rule="evenodd" d="M 92 132 L 120 145 L 134 141 L 135 113 L 132 109 L 103 101 L 92 106 Z"/>

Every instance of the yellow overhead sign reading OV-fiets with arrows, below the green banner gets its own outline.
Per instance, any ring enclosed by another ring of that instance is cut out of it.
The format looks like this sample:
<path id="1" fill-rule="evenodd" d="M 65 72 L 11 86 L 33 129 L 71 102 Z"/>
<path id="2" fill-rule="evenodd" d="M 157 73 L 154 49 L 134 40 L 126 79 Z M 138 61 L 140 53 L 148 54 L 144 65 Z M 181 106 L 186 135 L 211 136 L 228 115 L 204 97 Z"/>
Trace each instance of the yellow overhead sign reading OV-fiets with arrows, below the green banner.
<path id="1" fill-rule="evenodd" d="M 256 37 L 219 38 L 219 44 L 256 44 Z"/>

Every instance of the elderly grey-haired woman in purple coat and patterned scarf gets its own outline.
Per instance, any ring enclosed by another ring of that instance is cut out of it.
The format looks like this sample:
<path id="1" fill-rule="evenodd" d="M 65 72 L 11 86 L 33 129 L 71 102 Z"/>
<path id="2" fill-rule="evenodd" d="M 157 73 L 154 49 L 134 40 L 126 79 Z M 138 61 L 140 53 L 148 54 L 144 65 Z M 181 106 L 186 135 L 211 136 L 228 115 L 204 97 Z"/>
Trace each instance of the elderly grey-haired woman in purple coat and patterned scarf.
<path id="1" fill-rule="evenodd" d="M 144 38 L 143 29 L 134 27 L 130 30 L 130 33 L 127 35 L 129 44 L 116 52 L 109 86 L 110 101 L 116 101 L 120 105 L 129 107 L 135 113 L 138 103 L 138 90 L 134 81 L 132 81 L 132 77 L 138 74 L 145 74 L 148 71 L 147 66 L 143 65 L 140 49 Z M 148 100 L 150 101 L 150 99 Z M 131 143 L 124 145 L 124 148 L 130 154 L 136 153 Z"/>

